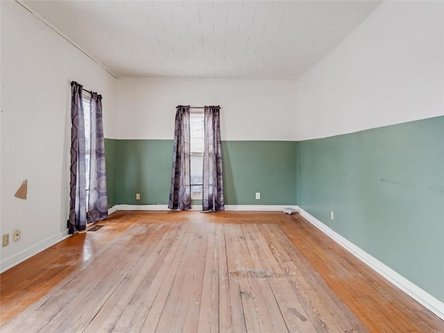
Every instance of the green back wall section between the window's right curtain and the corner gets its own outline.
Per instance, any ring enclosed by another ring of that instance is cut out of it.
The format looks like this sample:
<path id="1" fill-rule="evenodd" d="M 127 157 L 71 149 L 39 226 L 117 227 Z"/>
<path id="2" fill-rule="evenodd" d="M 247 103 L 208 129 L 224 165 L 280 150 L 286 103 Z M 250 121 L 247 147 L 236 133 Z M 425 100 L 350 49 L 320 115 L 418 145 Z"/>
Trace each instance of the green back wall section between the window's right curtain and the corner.
<path id="1" fill-rule="evenodd" d="M 222 154 L 225 204 L 296 205 L 296 142 L 225 141 Z"/>

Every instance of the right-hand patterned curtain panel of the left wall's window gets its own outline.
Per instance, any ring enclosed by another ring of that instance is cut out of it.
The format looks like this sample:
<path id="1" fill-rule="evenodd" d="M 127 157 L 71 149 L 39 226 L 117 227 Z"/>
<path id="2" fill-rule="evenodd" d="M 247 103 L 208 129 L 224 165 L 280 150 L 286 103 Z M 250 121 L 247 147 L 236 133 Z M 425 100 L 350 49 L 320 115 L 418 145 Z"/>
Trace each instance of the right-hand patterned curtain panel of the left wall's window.
<path id="1" fill-rule="evenodd" d="M 88 219 L 96 222 L 108 216 L 105 142 L 103 140 L 102 96 L 91 94 L 91 143 L 89 157 Z"/>

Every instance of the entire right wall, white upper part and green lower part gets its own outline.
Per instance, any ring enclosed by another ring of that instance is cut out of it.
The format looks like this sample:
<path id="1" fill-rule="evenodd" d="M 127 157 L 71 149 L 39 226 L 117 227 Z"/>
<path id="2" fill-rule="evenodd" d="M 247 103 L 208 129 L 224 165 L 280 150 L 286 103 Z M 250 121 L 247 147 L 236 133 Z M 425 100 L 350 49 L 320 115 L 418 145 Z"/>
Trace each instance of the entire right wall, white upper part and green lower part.
<path id="1" fill-rule="evenodd" d="M 444 316 L 444 3 L 384 3 L 296 92 L 298 205 Z"/>

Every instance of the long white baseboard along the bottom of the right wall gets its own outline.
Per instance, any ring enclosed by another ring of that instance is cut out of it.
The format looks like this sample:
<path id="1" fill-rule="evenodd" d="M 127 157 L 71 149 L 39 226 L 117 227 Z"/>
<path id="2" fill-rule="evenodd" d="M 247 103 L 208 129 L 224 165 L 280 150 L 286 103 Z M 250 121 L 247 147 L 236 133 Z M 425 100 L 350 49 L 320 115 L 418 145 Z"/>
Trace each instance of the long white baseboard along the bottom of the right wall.
<path id="1" fill-rule="evenodd" d="M 305 210 L 302 210 L 302 208 L 298 207 L 297 210 L 304 219 L 307 219 L 307 221 L 325 233 L 328 237 L 336 241 L 336 243 L 345 248 L 345 250 L 348 250 L 348 252 L 352 253 L 352 255 L 355 255 L 355 257 L 361 260 L 361 262 L 364 262 L 364 264 L 370 266 L 370 268 L 373 268 L 374 271 L 382 275 L 391 283 L 395 284 L 395 286 L 404 291 L 404 293 L 407 293 L 407 295 L 409 295 L 411 298 L 418 301 L 421 305 L 427 307 L 427 309 L 436 314 L 436 316 L 444 320 L 444 302 L 441 302 L 441 300 L 438 300 L 434 296 L 427 293 L 427 291 L 424 291 L 399 273 L 393 271 L 393 269 L 386 266 L 386 264 L 379 262 L 378 259 L 372 255 L 369 255 L 366 253 L 366 251 L 362 250 L 351 241 L 348 241 L 348 239 L 342 237 L 340 234 L 332 230 L 332 228 L 316 219 L 316 217 L 312 216 L 308 212 L 305 212 Z"/>

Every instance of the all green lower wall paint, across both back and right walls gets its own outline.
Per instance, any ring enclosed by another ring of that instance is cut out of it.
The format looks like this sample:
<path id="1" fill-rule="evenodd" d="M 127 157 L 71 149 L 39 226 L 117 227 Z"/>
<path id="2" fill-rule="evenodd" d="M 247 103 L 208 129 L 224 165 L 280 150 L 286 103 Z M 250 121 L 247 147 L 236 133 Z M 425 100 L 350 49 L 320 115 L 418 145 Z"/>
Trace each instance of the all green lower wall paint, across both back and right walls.
<path id="1" fill-rule="evenodd" d="M 168 203 L 172 140 L 105 139 L 105 148 L 110 205 Z M 225 204 L 297 203 L 444 301 L 444 117 L 222 150 Z"/>

